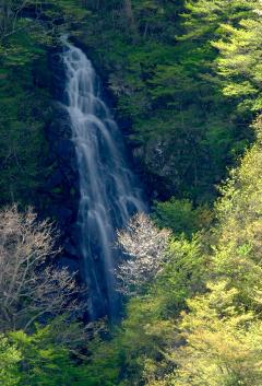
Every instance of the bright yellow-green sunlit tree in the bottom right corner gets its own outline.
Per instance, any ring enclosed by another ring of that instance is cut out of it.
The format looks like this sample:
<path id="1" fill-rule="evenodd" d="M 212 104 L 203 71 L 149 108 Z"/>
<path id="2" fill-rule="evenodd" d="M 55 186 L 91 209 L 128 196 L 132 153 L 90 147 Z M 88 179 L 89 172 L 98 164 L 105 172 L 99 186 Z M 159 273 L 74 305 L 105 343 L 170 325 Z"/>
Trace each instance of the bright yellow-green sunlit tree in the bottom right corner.
<path id="1" fill-rule="evenodd" d="M 209 285 L 210 293 L 188 302 L 179 324 L 179 349 L 166 358 L 176 367 L 154 386 L 260 386 L 262 323 L 235 306 L 236 289 L 226 281 Z M 150 384 L 152 386 L 152 384 Z"/>

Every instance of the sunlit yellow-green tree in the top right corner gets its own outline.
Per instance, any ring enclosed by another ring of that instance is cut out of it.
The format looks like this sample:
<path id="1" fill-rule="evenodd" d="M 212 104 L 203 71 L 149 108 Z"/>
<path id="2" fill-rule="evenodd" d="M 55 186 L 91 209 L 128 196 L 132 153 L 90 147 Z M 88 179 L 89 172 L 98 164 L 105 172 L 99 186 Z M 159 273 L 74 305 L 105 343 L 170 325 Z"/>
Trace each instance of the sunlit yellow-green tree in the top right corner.
<path id="1" fill-rule="evenodd" d="M 237 27 L 223 24 L 223 38 L 214 46 L 221 54 L 217 65 L 224 94 L 236 98 L 242 110 L 261 112 L 262 2 L 255 2 L 252 11 Z"/>

